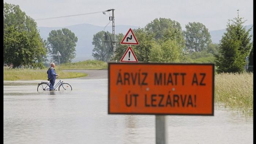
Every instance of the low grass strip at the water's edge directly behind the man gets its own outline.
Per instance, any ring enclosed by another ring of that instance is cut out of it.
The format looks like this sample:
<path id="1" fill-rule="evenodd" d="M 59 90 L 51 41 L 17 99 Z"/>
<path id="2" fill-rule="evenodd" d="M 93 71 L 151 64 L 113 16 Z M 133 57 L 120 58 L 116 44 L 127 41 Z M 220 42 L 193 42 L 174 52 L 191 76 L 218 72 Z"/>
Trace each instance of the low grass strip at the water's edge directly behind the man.
<path id="1" fill-rule="evenodd" d="M 86 73 L 58 71 L 61 79 L 87 76 Z M 4 69 L 4 80 L 47 80 L 47 69 Z"/>

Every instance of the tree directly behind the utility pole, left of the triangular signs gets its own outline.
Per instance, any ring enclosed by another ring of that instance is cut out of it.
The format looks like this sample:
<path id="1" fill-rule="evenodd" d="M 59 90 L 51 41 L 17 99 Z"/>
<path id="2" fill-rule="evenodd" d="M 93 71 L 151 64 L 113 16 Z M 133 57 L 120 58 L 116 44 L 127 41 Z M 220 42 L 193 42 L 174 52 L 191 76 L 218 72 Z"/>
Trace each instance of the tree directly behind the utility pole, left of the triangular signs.
<path id="1" fill-rule="evenodd" d="M 92 55 L 95 60 L 109 61 L 113 55 L 112 45 L 111 43 L 105 43 L 104 34 L 105 31 L 99 31 L 98 33 L 93 35 L 92 44 L 94 45 L 94 48 Z M 112 35 L 109 32 L 107 32 L 107 34 L 112 37 Z M 112 41 L 114 40 L 112 39 Z"/>

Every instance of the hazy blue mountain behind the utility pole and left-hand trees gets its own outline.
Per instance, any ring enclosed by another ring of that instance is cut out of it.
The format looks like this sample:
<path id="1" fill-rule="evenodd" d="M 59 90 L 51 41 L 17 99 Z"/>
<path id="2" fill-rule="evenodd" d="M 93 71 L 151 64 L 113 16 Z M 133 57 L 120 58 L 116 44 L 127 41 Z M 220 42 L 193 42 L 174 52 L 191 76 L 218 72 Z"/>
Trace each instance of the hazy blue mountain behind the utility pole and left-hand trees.
<path id="1" fill-rule="evenodd" d="M 93 52 L 93 35 L 99 31 L 102 31 L 104 27 L 101 26 L 94 26 L 91 24 L 76 24 L 73 26 L 67 27 L 38 27 L 39 33 L 43 39 L 47 39 L 49 36 L 50 31 L 52 30 L 59 30 L 62 28 L 67 28 L 75 33 L 78 37 L 78 42 L 76 43 L 76 58 L 73 60 L 75 61 L 82 61 L 87 59 L 93 59 L 92 52 Z M 124 25 L 117 25 L 116 26 L 116 34 L 123 33 L 125 34 L 129 28 L 138 29 L 137 26 L 124 26 Z M 107 26 L 105 31 L 109 31 L 112 33 L 112 26 Z"/>

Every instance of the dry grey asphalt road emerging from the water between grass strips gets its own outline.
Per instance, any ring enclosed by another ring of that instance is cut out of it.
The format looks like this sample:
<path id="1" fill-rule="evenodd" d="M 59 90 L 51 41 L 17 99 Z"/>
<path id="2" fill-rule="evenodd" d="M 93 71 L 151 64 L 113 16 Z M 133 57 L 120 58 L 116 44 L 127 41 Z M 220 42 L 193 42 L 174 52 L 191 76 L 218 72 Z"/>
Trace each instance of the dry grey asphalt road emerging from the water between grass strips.
<path id="1" fill-rule="evenodd" d="M 66 72 L 82 72 L 87 73 L 88 76 L 85 77 L 77 77 L 76 79 L 108 79 L 108 70 L 88 70 L 88 69 L 81 69 L 81 70 L 63 70 Z"/>

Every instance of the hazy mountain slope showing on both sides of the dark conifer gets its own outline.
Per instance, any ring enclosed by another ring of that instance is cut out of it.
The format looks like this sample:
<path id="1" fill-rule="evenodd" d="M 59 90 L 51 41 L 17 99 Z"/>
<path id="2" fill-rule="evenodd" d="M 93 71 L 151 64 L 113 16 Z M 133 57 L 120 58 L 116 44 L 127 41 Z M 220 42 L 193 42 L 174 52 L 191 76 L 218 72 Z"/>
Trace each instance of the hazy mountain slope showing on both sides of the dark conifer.
<path id="1" fill-rule="evenodd" d="M 250 29 L 252 27 L 251 25 L 246 26 L 246 30 Z M 219 41 L 222 38 L 222 35 L 226 32 L 226 29 L 222 29 L 222 30 L 213 30 L 213 31 L 209 31 L 211 34 L 211 40 L 213 43 L 219 43 Z M 250 31 L 250 34 L 253 34 L 253 27 L 252 30 Z"/>

